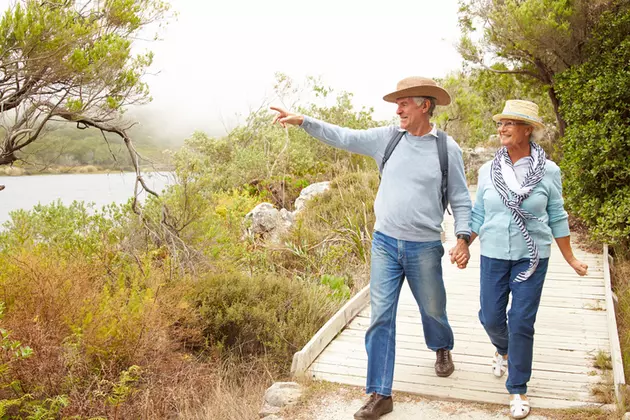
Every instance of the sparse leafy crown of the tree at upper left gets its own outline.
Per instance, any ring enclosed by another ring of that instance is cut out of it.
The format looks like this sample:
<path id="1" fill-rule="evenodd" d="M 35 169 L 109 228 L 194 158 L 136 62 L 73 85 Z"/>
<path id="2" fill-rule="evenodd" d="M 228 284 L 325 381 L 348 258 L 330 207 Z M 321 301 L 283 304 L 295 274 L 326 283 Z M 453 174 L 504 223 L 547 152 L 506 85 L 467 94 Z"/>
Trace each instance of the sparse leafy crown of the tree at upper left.
<path id="1" fill-rule="evenodd" d="M 22 0 L 0 19 L 0 165 L 11 164 L 54 119 L 127 137 L 122 112 L 150 100 L 142 81 L 150 52 L 133 40 L 162 21 L 161 0 Z"/>

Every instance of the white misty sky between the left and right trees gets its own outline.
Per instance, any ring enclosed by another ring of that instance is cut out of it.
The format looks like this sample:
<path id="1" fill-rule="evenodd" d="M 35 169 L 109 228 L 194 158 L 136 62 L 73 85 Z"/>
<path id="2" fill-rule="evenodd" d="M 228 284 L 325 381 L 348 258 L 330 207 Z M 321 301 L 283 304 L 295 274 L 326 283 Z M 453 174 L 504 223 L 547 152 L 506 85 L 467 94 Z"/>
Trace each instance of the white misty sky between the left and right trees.
<path id="1" fill-rule="evenodd" d="M 149 44 L 157 74 L 146 79 L 154 100 L 142 115 L 155 118 L 145 122 L 152 129 L 182 140 L 194 130 L 233 128 L 272 98 L 275 72 L 298 82 L 319 76 L 354 93 L 357 107 L 389 119 L 395 107 L 382 97 L 398 80 L 442 77 L 461 66 L 457 0 L 170 3 L 178 17 L 162 41 Z M 0 0 L 2 10 L 8 4 Z"/>

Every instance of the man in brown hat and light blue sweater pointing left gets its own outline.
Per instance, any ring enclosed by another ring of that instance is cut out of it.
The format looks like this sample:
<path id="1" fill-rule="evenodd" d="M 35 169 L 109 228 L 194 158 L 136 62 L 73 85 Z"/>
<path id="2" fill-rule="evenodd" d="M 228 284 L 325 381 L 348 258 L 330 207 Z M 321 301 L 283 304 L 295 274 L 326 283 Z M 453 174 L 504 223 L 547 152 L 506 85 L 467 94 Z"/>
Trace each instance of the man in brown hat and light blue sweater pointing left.
<path id="1" fill-rule="evenodd" d="M 424 337 L 436 352 L 435 373 L 446 377 L 454 370 L 451 358 L 453 331 L 446 316 L 446 292 L 440 240 L 444 219 L 442 172 L 438 158 L 438 131 L 429 120 L 436 105 L 448 105 L 451 98 L 433 80 L 409 77 L 398 83 L 395 92 L 383 98 L 398 105 L 400 127 L 351 130 L 308 116 L 271 109 L 283 127 L 302 127 L 311 136 L 355 153 L 373 157 L 382 171 L 374 211 L 376 223 L 372 241 L 370 273 L 371 321 L 365 335 L 368 354 L 366 393 L 368 402 L 355 419 L 377 419 L 393 409 L 391 398 L 396 347 L 396 310 L 404 278 L 414 295 Z M 385 149 L 397 133 L 403 137 L 384 167 Z M 470 258 L 471 200 L 466 185 L 462 152 L 448 137 L 447 198 L 455 217 L 457 245 L 451 250 L 451 262 L 460 268 Z"/>

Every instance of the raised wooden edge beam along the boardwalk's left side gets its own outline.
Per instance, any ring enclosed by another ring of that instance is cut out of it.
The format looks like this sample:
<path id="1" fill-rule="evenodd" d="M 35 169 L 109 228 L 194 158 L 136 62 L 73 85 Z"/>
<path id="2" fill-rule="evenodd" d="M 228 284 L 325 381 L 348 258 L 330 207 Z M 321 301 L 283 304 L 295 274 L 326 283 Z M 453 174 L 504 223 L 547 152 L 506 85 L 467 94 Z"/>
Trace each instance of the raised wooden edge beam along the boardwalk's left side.
<path id="1" fill-rule="evenodd" d="M 315 358 L 335 338 L 367 304 L 370 299 L 370 286 L 364 287 L 350 299 L 337 313 L 317 331 L 304 348 L 293 355 L 291 375 L 300 376 L 313 363 Z"/>

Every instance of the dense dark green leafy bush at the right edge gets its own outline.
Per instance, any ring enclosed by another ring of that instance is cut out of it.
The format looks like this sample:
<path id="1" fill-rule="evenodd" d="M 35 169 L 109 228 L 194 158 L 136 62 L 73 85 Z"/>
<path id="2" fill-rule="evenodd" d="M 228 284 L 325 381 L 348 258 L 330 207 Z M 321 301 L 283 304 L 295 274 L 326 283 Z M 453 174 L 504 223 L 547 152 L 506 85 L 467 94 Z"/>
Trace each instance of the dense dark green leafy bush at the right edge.
<path id="1" fill-rule="evenodd" d="M 563 139 L 568 208 L 598 239 L 630 237 L 630 8 L 602 16 L 590 57 L 557 77 L 569 123 Z"/>

